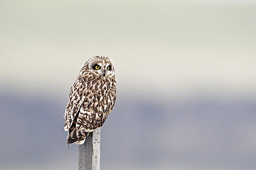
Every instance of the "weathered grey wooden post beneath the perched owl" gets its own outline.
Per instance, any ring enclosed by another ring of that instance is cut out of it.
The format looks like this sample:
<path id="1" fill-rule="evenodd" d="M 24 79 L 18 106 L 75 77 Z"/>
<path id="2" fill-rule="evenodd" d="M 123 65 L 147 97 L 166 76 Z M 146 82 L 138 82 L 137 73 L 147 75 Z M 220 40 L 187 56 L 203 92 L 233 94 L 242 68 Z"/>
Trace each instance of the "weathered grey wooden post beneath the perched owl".
<path id="1" fill-rule="evenodd" d="M 100 170 L 100 129 L 90 133 L 78 145 L 78 170 Z"/>

